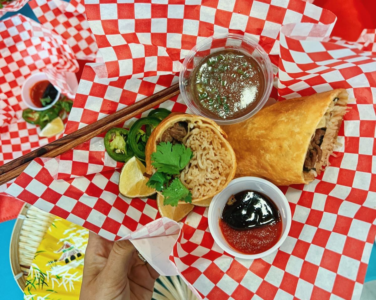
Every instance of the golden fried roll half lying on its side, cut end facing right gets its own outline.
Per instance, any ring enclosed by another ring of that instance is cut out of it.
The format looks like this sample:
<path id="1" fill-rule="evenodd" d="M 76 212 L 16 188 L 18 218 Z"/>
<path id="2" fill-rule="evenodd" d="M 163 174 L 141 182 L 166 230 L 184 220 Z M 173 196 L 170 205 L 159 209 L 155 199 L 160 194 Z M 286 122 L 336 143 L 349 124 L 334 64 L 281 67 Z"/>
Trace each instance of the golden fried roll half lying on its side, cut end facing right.
<path id="1" fill-rule="evenodd" d="M 237 158 L 235 177 L 257 176 L 276 185 L 314 180 L 329 165 L 348 96 L 335 89 L 284 100 L 223 126 Z"/>

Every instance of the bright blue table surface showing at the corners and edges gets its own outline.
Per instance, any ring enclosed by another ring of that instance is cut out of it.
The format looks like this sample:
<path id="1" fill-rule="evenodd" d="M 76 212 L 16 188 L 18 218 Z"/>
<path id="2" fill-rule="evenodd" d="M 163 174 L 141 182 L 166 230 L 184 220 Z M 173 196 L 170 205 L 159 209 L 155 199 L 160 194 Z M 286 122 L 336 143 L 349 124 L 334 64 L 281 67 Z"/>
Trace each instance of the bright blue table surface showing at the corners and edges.
<path id="1" fill-rule="evenodd" d="M 70 0 L 65 0 L 69 2 Z M 3 15 L 0 20 L 5 18 L 11 17 L 15 14 L 23 14 L 26 17 L 29 17 L 38 22 L 38 19 L 35 17 L 32 9 L 30 8 L 29 4 L 26 4 L 23 8 L 21 8 L 17 12 L 7 12 Z M 39 22 L 38 22 L 39 23 Z M 0 252 L 0 270 L 2 270 L 2 283 L 3 286 L 7 288 L 2 290 L 2 297 L 3 299 L 23 299 L 23 292 L 21 292 L 20 288 L 18 287 L 16 281 L 13 278 L 13 274 L 11 271 L 11 265 L 9 262 L 9 245 L 11 241 L 12 229 L 14 226 L 15 220 L 7 221 L 0 223 L 0 232 L 1 232 L 1 241 L 3 243 L 4 248 Z M 367 274 L 365 275 L 365 282 L 376 280 L 376 245 L 373 244 L 372 253 L 370 257 L 370 262 L 367 269 Z"/>

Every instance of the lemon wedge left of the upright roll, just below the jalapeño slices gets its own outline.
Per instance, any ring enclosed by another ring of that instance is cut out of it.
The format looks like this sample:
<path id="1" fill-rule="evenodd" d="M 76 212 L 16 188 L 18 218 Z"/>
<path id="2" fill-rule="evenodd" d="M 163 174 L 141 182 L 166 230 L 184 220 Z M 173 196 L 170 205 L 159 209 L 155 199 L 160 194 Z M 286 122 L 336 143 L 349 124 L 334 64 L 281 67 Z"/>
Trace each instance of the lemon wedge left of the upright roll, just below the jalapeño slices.
<path id="1" fill-rule="evenodd" d="M 119 192 L 128 198 L 147 197 L 155 193 L 155 189 L 146 186 L 149 180 L 144 176 L 145 166 L 135 156 L 127 161 L 121 169 Z"/>

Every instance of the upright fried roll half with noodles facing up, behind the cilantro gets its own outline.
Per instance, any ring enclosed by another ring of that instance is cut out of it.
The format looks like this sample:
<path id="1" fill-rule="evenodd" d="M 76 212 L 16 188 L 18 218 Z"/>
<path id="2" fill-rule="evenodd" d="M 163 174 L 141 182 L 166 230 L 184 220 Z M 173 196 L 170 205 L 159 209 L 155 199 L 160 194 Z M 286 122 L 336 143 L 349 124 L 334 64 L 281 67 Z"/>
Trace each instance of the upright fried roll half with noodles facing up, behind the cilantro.
<path id="1" fill-rule="evenodd" d="M 179 174 L 169 177 L 169 181 L 179 179 L 191 193 L 192 204 L 208 206 L 208 199 L 224 189 L 235 175 L 235 153 L 226 137 L 226 133 L 208 118 L 170 114 L 153 130 L 147 141 L 146 173 L 152 175 L 156 172 L 152 154 L 161 143 L 182 144 L 190 148 L 192 157 L 188 164 Z M 179 205 L 184 203 L 179 201 Z"/>

